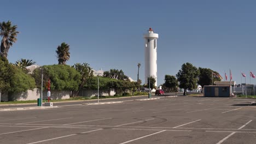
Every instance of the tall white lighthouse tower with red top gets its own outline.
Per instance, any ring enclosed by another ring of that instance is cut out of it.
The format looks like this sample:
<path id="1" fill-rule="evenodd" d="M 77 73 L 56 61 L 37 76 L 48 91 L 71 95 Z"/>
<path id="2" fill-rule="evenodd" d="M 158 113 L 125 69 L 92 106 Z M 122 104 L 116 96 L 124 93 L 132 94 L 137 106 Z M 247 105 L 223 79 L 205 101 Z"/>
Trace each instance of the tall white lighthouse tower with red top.
<path id="1" fill-rule="evenodd" d="M 156 59 L 157 39 L 158 34 L 154 33 L 152 28 L 149 28 L 148 33 L 144 34 L 145 39 L 145 83 L 148 77 L 155 78 L 155 86 L 158 84 L 158 69 Z"/>

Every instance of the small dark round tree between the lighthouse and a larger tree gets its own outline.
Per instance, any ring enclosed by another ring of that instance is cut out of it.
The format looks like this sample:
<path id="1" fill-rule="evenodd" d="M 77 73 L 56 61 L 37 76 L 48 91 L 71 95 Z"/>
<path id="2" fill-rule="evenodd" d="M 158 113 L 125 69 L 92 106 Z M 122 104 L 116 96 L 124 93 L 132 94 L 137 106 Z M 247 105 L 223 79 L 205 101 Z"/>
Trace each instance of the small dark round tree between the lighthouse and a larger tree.
<path id="1" fill-rule="evenodd" d="M 178 86 L 178 81 L 175 76 L 173 75 L 165 75 L 165 83 L 164 83 L 165 88 L 168 89 L 169 92 L 174 91 L 176 92 L 177 86 Z"/>

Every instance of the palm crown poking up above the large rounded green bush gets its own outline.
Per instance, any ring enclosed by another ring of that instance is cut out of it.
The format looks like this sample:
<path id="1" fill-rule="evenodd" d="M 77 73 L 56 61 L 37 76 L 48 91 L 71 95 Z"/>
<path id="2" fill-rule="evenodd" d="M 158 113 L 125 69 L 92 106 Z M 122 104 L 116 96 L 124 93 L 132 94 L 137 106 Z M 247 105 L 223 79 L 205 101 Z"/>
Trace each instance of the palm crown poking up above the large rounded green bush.
<path id="1" fill-rule="evenodd" d="M 69 45 L 63 42 L 57 47 L 56 52 L 59 64 L 66 64 L 66 61 L 70 58 Z"/>

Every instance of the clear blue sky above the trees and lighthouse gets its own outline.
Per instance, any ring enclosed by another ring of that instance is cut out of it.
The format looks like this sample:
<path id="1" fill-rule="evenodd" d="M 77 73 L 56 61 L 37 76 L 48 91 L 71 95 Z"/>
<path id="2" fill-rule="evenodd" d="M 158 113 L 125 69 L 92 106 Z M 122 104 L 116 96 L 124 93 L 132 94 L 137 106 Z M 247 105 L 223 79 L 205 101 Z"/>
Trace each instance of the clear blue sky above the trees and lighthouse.
<path id="1" fill-rule="evenodd" d="M 8 59 L 57 64 L 56 48 L 70 45 L 67 62 L 96 70 L 122 69 L 144 82 L 143 34 L 152 27 L 158 39 L 158 85 L 181 65 L 210 68 L 224 77 L 241 70 L 256 74 L 255 1 L 2 1 L 0 21 L 18 25 L 18 41 Z M 243 79 L 243 82 L 245 79 Z M 256 84 L 256 80 L 252 79 Z"/>

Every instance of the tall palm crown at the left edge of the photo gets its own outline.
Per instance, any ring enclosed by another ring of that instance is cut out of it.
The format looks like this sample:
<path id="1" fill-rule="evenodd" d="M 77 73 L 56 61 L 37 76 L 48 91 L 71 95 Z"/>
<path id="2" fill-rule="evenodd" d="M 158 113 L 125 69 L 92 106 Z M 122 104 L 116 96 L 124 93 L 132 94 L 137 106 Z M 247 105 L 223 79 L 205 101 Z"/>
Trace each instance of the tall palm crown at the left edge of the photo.
<path id="1" fill-rule="evenodd" d="M 10 21 L 0 22 L 0 36 L 3 37 L 1 41 L 1 57 L 7 58 L 10 47 L 17 41 L 16 37 L 19 32 L 16 31 L 16 28 L 17 26 L 12 26 Z"/>

